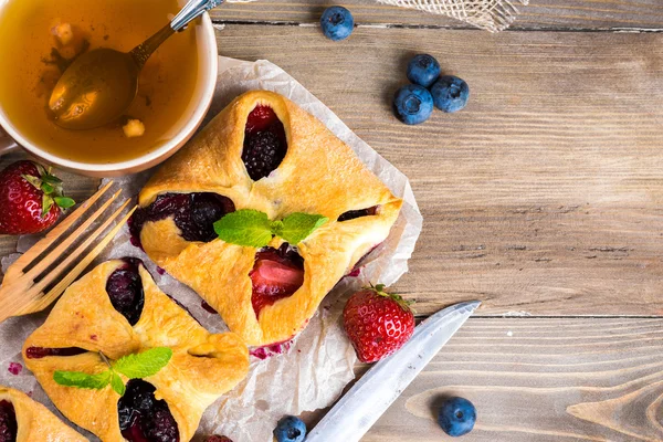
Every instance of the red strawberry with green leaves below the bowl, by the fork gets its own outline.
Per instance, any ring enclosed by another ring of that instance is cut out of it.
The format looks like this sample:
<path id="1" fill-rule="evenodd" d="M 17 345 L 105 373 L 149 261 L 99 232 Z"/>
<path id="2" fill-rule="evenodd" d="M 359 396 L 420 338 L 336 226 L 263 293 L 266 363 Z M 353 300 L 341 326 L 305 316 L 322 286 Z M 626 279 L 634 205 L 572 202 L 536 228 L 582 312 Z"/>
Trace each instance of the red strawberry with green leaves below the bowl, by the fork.
<path id="1" fill-rule="evenodd" d="M 62 194 L 62 181 L 36 162 L 23 160 L 0 171 L 0 233 L 39 233 L 74 206 Z"/>

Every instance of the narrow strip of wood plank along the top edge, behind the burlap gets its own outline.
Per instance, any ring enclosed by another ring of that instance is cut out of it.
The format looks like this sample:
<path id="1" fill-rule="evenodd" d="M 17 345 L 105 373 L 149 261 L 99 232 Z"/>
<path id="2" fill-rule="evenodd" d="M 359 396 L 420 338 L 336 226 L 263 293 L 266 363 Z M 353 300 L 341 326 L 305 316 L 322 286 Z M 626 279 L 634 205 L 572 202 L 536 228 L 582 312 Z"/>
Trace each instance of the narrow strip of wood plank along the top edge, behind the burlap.
<path id="1" fill-rule="evenodd" d="M 214 20 L 245 22 L 313 23 L 329 3 L 327 0 L 260 0 L 228 3 L 212 12 Z M 406 24 L 467 27 L 463 22 L 414 10 L 380 4 L 372 0 L 341 2 L 359 24 Z M 663 6 L 657 0 L 533 0 L 518 6 L 520 14 L 512 29 L 661 29 Z"/>

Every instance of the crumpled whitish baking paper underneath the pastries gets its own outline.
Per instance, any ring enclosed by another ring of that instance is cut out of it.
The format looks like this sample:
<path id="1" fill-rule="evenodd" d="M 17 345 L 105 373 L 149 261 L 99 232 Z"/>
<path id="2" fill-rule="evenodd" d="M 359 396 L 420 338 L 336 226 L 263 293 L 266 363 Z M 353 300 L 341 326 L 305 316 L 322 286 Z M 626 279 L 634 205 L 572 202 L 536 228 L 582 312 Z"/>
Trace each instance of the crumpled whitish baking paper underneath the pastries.
<path id="1" fill-rule="evenodd" d="M 315 115 L 340 139 L 355 149 L 359 158 L 404 199 L 400 217 L 387 241 L 375 250 L 358 277 L 345 277 L 327 295 L 306 329 L 291 343 L 274 348 L 252 349 L 249 376 L 204 413 L 196 440 L 209 434 L 224 434 L 234 442 L 271 442 L 276 421 L 284 414 L 298 415 L 329 407 L 354 379 L 355 351 L 341 325 L 341 312 L 349 294 L 369 282 L 391 285 L 408 271 L 408 259 L 421 232 L 422 218 L 407 177 L 355 135 L 320 101 L 278 66 L 267 62 L 219 59 L 219 80 L 208 120 L 239 94 L 250 90 L 280 93 Z M 116 179 L 114 187 L 135 197 L 151 171 Z M 104 180 L 106 181 L 106 180 Z M 119 203 L 119 202 L 118 202 Z M 39 236 L 22 236 L 18 252 L 28 250 Z M 2 269 L 18 254 L 2 259 Z M 200 297 L 183 284 L 164 273 L 139 249 L 129 242 L 126 225 L 95 263 L 113 257 L 137 256 L 144 260 L 159 287 L 181 302 L 211 332 L 225 332 L 220 316 L 207 312 Z M 0 325 L 0 383 L 25 392 L 54 410 L 53 404 L 23 368 L 21 347 L 30 333 L 41 325 L 46 313 L 11 318 Z M 10 367 L 11 365 L 11 367 Z M 92 434 L 84 432 L 91 440 Z"/>

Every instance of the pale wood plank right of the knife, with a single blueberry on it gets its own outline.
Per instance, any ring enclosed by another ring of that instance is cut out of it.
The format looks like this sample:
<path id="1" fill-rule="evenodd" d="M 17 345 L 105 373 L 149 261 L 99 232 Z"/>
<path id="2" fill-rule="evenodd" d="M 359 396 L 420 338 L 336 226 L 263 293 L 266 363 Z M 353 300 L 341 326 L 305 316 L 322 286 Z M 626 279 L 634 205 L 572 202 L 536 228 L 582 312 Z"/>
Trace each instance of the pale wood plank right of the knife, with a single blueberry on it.
<path id="1" fill-rule="evenodd" d="M 477 409 L 463 441 L 661 441 L 661 319 L 470 319 L 365 442 L 442 441 L 441 398 Z"/>

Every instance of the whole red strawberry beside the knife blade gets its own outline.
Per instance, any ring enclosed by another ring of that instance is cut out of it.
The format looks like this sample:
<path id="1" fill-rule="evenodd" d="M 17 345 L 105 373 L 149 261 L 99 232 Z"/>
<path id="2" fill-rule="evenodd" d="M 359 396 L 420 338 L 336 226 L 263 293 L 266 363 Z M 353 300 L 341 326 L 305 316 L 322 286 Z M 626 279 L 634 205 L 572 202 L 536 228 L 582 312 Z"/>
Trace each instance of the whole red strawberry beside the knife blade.
<path id="1" fill-rule="evenodd" d="M 362 362 L 376 362 L 401 348 L 414 332 L 414 315 L 397 294 L 378 284 L 350 296 L 343 311 L 345 330 Z"/>

